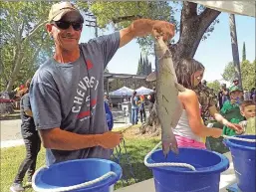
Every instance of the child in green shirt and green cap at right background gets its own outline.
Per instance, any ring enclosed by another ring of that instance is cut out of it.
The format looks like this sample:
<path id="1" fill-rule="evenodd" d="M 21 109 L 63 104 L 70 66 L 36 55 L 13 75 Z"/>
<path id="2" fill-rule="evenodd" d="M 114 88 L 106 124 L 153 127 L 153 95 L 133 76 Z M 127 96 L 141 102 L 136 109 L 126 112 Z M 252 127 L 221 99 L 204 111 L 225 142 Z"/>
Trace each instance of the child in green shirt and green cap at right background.
<path id="1" fill-rule="evenodd" d="M 244 120 L 240 112 L 239 105 L 242 102 L 243 91 L 239 86 L 233 86 L 229 90 L 230 100 L 226 100 L 220 110 L 220 113 L 226 117 L 232 123 L 239 123 Z M 226 125 L 223 127 L 223 134 L 233 136 L 241 133 L 241 130 L 234 130 Z"/>

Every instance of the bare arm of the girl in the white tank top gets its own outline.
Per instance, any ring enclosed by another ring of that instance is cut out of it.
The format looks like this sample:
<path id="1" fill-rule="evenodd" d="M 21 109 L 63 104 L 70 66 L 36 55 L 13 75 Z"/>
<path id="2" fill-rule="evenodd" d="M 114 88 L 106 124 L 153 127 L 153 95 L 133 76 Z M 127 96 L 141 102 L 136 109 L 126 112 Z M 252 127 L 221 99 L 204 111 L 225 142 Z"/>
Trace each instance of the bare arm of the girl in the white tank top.
<path id="1" fill-rule="evenodd" d="M 199 101 L 193 91 L 186 90 L 179 97 L 185 107 L 189 126 L 191 127 L 194 134 L 201 137 L 212 136 L 218 138 L 221 136 L 222 130 L 220 128 L 208 128 L 203 124 L 199 112 Z"/>

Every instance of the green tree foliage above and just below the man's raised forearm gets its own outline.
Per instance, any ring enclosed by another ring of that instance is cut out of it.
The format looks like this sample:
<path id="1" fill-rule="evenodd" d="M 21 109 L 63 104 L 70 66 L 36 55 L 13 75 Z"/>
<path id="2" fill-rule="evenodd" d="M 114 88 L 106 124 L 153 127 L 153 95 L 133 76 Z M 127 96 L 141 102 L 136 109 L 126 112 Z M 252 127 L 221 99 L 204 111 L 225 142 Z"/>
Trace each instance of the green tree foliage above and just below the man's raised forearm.
<path id="1" fill-rule="evenodd" d="M 120 30 L 138 18 L 164 20 L 177 26 L 172 6 L 164 1 L 97 1 L 91 3 L 90 11 L 97 17 L 98 26 L 102 29 L 112 26 Z M 137 38 L 137 43 L 143 51 L 152 53 L 151 37 Z"/>

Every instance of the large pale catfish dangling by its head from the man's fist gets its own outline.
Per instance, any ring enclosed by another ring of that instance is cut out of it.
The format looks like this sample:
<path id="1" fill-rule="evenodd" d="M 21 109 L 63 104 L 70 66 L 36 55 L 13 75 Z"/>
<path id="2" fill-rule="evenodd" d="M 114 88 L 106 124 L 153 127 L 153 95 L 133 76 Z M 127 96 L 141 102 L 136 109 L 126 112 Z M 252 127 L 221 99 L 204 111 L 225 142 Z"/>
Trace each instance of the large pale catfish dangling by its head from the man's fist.
<path id="1" fill-rule="evenodd" d="M 155 55 L 158 60 L 155 67 L 156 77 L 151 74 L 147 81 L 156 80 L 156 102 L 153 110 L 156 109 L 157 117 L 153 124 L 161 126 L 162 151 L 166 158 L 169 150 L 178 153 L 172 128 L 176 127 L 182 113 L 178 92 L 184 92 L 185 88 L 177 83 L 171 53 L 161 37 L 156 39 Z"/>

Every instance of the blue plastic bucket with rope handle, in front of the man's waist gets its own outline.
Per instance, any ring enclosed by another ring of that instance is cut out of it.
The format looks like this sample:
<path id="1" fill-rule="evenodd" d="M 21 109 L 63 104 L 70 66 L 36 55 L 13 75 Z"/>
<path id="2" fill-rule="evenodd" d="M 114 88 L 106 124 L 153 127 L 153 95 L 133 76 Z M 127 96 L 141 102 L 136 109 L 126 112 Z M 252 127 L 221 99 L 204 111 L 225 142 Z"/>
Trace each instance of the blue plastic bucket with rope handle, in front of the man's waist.
<path id="1" fill-rule="evenodd" d="M 79 159 L 38 170 L 33 176 L 32 186 L 37 192 L 110 192 L 121 176 L 121 166 L 113 161 Z"/>

